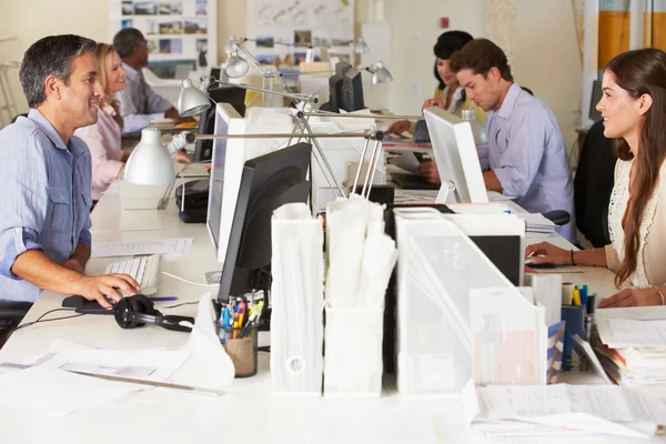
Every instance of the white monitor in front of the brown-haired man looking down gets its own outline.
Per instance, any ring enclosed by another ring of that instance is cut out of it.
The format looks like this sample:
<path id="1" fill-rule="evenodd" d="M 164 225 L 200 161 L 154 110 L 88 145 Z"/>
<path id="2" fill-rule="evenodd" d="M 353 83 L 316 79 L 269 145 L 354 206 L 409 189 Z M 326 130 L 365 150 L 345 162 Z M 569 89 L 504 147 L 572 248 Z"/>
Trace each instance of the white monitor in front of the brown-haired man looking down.
<path id="1" fill-rule="evenodd" d="M 425 109 L 424 114 L 442 179 L 435 202 L 487 203 L 470 122 L 438 107 Z"/>

